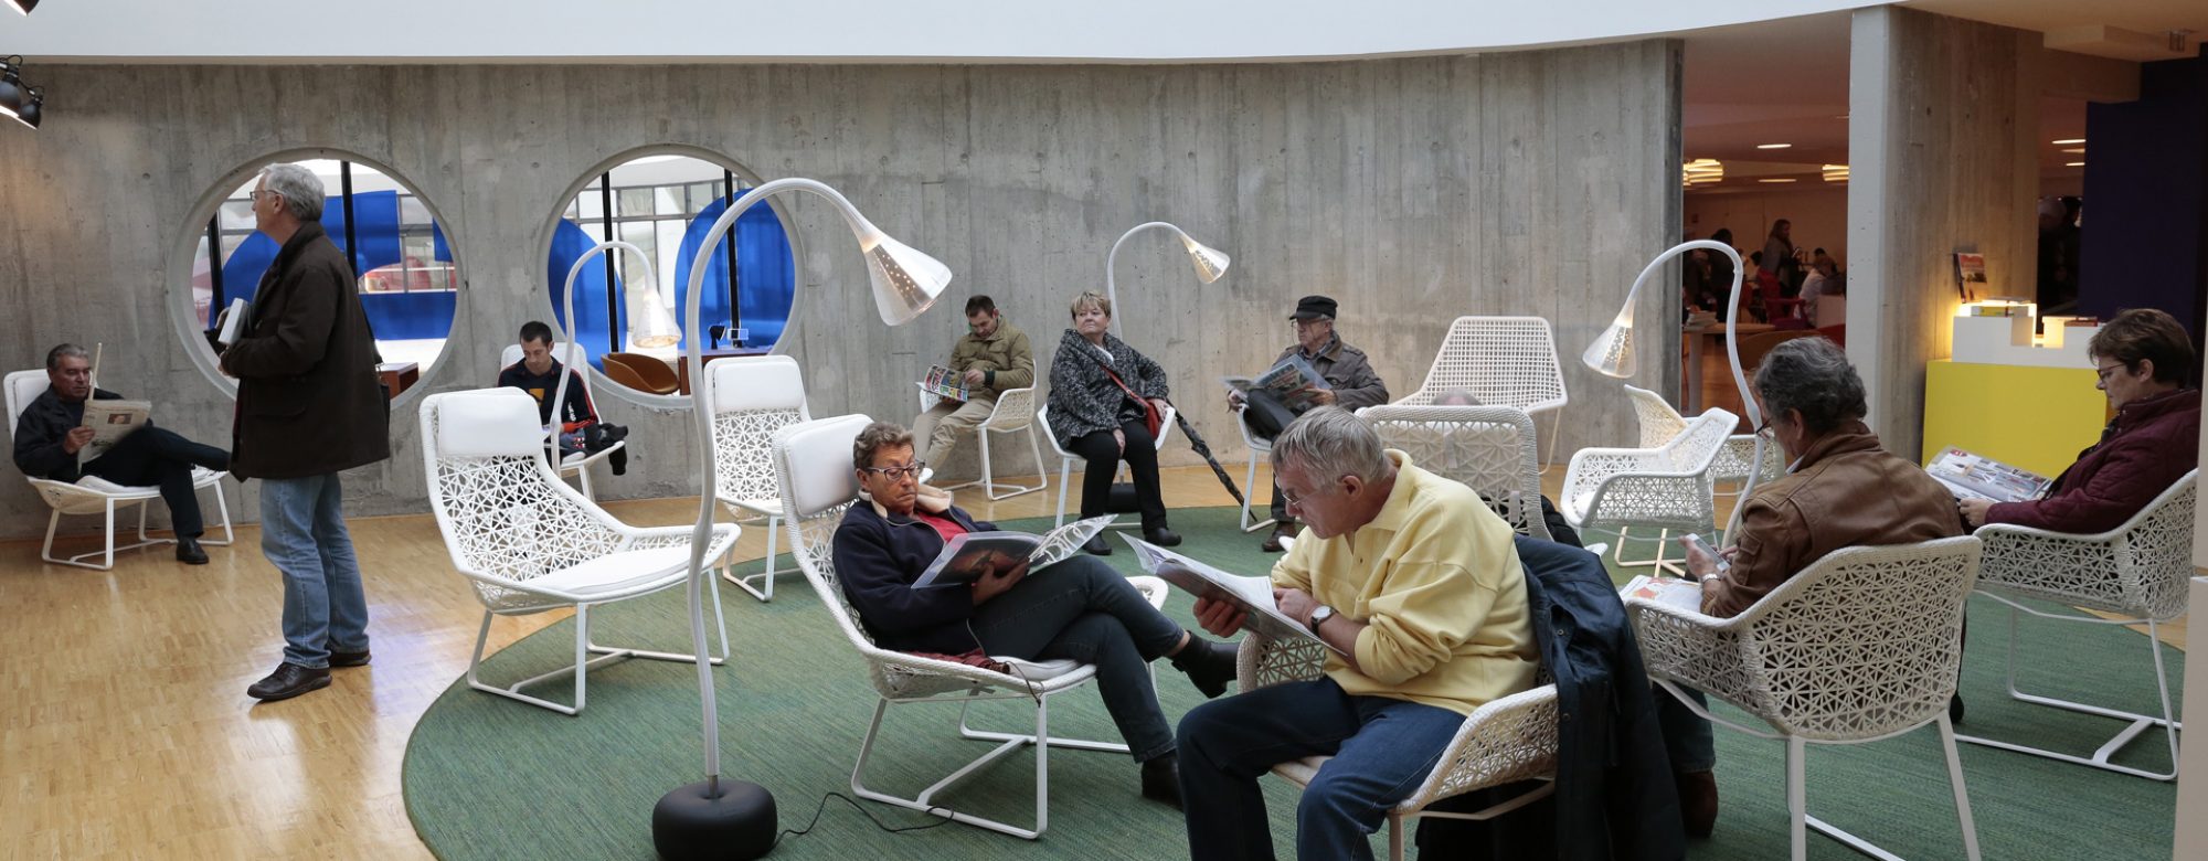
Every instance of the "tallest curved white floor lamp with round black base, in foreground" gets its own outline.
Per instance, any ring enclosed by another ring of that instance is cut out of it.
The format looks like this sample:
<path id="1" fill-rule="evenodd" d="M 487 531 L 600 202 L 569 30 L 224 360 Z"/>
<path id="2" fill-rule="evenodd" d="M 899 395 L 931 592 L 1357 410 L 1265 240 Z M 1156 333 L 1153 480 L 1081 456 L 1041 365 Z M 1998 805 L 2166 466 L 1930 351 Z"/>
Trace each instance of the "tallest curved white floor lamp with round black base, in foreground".
<path id="1" fill-rule="evenodd" d="M 899 243 L 874 227 L 843 194 L 813 179 L 775 179 L 744 192 L 726 212 L 713 221 L 713 230 L 698 243 L 698 258 L 691 263 L 689 296 L 682 302 L 682 320 L 698 333 L 698 291 L 704 289 L 704 269 L 711 263 L 713 245 L 735 225 L 753 203 L 779 192 L 813 192 L 835 203 L 843 221 L 850 223 L 866 254 L 868 280 L 874 285 L 874 309 L 881 322 L 901 327 L 912 322 L 936 302 L 952 280 L 952 269 L 941 261 Z M 691 642 L 704 647 L 704 545 L 713 534 L 713 386 L 704 382 L 704 362 L 698 355 L 698 338 L 682 344 L 682 360 L 689 362 L 691 415 L 698 419 L 698 464 L 702 492 L 698 495 L 698 528 L 691 532 L 689 561 L 689 605 Z M 704 768 L 702 784 L 680 786 L 660 797 L 651 810 L 651 843 L 662 859 L 755 859 L 775 846 L 775 799 L 760 784 L 720 779 L 720 720 L 713 704 L 713 667 L 704 651 L 698 651 L 698 693 L 704 704 Z"/>

